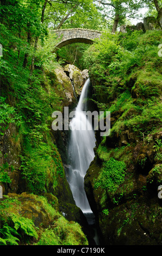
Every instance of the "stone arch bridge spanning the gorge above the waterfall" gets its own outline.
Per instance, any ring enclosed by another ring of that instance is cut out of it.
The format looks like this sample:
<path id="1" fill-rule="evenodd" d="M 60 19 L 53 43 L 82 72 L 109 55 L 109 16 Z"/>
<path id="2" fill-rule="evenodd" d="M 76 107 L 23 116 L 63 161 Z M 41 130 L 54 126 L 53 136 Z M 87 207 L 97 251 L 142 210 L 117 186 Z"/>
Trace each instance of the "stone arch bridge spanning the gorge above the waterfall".
<path id="1" fill-rule="evenodd" d="M 100 31 L 84 28 L 61 29 L 53 32 L 58 36 L 58 38 L 60 38 L 57 48 L 73 44 L 75 42 L 92 44 L 95 38 L 99 38 L 101 36 Z"/>

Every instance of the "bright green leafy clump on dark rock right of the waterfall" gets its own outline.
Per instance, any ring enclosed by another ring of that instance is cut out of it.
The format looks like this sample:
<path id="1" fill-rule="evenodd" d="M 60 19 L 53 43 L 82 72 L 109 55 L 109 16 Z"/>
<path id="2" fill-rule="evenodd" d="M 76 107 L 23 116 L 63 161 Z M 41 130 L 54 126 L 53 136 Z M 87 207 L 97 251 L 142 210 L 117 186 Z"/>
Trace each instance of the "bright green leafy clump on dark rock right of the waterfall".
<path id="1" fill-rule="evenodd" d="M 117 161 L 111 157 L 109 161 L 103 162 L 101 174 L 95 182 L 94 188 L 101 186 L 105 190 L 115 192 L 124 182 L 125 171 L 126 164 L 123 161 Z"/>

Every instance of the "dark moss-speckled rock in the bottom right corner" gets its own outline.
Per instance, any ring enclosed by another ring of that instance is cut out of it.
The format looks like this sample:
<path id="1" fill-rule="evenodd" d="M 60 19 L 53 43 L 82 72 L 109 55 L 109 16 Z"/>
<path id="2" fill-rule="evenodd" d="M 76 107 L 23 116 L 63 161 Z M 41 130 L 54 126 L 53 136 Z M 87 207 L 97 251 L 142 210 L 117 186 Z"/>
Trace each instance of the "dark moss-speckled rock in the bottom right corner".
<path id="1" fill-rule="evenodd" d="M 161 208 L 138 198 L 99 216 L 103 239 L 109 245 L 161 245 Z"/>

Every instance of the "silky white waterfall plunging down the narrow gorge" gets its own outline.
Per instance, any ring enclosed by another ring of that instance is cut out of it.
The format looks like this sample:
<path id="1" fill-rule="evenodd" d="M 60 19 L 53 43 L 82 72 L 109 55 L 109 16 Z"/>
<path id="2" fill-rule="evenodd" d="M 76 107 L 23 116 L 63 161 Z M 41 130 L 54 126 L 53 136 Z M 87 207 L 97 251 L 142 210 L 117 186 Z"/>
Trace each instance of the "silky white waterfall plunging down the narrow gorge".
<path id="1" fill-rule="evenodd" d="M 68 153 L 71 159 L 71 167 L 68 174 L 73 198 L 76 205 L 85 213 L 92 212 L 84 190 L 84 176 L 90 163 L 95 157 L 95 132 L 86 114 L 86 97 L 90 80 L 88 79 L 82 89 L 82 94 L 75 111 L 75 117 L 70 121 L 71 137 Z"/>

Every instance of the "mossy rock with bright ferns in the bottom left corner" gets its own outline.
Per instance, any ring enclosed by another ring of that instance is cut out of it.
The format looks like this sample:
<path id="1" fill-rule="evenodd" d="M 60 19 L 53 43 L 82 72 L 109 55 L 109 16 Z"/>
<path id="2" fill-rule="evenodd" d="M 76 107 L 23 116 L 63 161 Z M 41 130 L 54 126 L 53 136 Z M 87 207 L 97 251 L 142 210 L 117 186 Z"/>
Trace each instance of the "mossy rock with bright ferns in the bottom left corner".
<path id="1" fill-rule="evenodd" d="M 58 211 L 57 198 L 51 194 L 45 196 L 27 193 L 3 196 L 1 244 L 88 245 L 80 225 L 67 221 Z"/>

